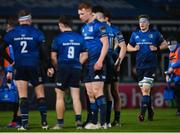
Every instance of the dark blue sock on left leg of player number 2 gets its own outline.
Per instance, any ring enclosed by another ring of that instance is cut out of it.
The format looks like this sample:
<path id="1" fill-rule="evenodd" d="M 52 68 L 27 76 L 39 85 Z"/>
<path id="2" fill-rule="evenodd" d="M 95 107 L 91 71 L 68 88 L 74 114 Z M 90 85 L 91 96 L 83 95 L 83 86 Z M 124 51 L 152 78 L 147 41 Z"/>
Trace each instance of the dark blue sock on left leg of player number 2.
<path id="1" fill-rule="evenodd" d="M 26 97 L 20 98 L 20 111 L 21 111 L 21 120 L 22 126 L 27 128 L 28 126 L 28 118 L 29 118 L 29 103 Z"/>

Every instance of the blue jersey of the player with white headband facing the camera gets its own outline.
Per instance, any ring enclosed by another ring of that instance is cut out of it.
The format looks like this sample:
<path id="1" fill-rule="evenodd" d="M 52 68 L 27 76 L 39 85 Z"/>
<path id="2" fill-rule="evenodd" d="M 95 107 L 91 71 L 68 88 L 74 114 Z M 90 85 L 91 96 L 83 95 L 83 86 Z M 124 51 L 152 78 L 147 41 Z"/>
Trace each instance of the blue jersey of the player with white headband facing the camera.
<path id="1" fill-rule="evenodd" d="M 131 35 L 129 44 L 133 47 L 138 44 L 140 46 L 136 55 L 136 68 L 146 69 L 157 67 L 157 52 L 150 50 L 150 45 L 159 46 L 164 41 L 160 32 L 154 29 L 149 29 L 147 32 L 142 32 L 140 29 L 134 31 Z"/>

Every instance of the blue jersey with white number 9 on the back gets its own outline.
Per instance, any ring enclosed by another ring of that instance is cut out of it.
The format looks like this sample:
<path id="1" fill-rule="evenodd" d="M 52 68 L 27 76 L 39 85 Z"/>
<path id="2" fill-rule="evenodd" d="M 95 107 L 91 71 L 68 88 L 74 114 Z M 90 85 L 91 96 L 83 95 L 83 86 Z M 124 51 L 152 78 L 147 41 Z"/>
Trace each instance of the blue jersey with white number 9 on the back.
<path id="1" fill-rule="evenodd" d="M 79 56 L 86 51 L 84 38 L 76 32 L 60 33 L 53 41 L 52 51 L 58 54 L 58 65 L 81 69 Z"/>

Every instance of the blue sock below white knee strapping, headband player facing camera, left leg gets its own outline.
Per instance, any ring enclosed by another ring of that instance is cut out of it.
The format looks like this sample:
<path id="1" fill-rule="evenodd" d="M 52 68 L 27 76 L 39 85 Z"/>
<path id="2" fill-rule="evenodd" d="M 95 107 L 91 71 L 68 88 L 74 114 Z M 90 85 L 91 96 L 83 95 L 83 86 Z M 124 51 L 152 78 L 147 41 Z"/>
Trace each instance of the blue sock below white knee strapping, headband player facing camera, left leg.
<path id="1" fill-rule="evenodd" d="M 141 100 L 141 114 L 142 115 L 145 115 L 149 103 L 150 103 L 150 96 L 148 95 L 142 96 L 142 100 Z"/>

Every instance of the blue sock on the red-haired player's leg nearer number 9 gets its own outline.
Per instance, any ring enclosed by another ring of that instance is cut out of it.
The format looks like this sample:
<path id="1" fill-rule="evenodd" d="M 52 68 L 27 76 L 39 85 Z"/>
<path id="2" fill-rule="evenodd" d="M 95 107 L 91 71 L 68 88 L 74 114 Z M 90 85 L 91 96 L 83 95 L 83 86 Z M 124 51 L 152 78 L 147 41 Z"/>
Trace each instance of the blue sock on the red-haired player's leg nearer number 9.
<path id="1" fill-rule="evenodd" d="M 98 108 L 96 103 L 90 103 L 90 108 L 91 108 L 91 122 L 93 124 L 97 124 L 98 121 Z"/>

